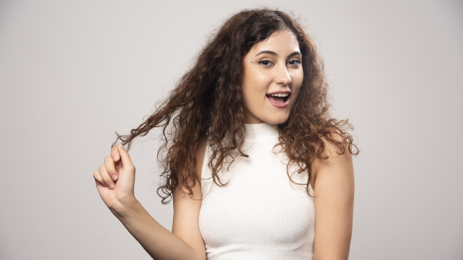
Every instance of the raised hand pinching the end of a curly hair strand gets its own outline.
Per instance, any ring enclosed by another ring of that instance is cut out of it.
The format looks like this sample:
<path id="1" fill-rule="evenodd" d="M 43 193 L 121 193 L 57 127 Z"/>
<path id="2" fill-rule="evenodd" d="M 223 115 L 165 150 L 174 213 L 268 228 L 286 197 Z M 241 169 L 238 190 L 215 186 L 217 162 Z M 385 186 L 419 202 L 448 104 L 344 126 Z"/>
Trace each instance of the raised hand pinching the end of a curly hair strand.
<path id="1" fill-rule="evenodd" d="M 94 171 L 96 187 L 101 199 L 113 211 L 135 200 L 135 166 L 124 146 L 119 143 L 111 148 L 111 156 Z"/>

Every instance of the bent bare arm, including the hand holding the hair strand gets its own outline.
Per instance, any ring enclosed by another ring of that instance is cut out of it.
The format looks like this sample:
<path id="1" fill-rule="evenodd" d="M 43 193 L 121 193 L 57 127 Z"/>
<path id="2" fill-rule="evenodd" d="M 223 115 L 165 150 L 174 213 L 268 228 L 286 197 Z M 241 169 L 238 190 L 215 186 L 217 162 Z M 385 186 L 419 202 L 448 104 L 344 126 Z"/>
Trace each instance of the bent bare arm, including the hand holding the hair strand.
<path id="1" fill-rule="evenodd" d="M 200 201 L 198 205 L 198 202 L 189 196 L 181 198 L 180 193 L 174 192 L 174 227 L 177 223 L 181 228 L 173 227 L 174 233 L 165 229 L 150 216 L 133 195 L 135 167 L 127 151 L 121 144 L 119 145 L 111 149 L 112 156 L 107 156 L 105 164 L 100 166 L 99 171 L 94 172 L 98 192 L 106 206 L 153 259 L 206 259 L 204 241 L 199 233 L 197 222 Z M 114 164 L 114 161 L 117 163 Z M 117 180 L 115 184 L 110 176 Z M 193 190 L 192 197 L 200 195 L 198 183 Z M 181 215 L 175 214 L 175 210 Z M 196 212 L 197 216 L 190 215 Z M 193 226 L 185 226 L 185 223 L 193 223 Z M 198 246 L 201 243 L 202 248 Z"/>

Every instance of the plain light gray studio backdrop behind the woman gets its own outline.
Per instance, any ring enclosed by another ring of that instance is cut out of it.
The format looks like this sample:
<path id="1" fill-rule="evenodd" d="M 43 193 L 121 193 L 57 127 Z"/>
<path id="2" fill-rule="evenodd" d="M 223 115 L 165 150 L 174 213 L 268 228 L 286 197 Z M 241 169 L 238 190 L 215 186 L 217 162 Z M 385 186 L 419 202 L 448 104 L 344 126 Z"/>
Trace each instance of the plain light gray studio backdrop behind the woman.
<path id="1" fill-rule="evenodd" d="M 463 3 L 0 1 L 0 259 L 150 259 L 106 208 L 93 172 L 114 132 L 153 112 L 209 33 L 279 6 L 307 26 L 333 115 L 354 124 L 350 259 L 463 259 Z M 130 151 L 135 193 L 156 194 L 155 135 Z"/>

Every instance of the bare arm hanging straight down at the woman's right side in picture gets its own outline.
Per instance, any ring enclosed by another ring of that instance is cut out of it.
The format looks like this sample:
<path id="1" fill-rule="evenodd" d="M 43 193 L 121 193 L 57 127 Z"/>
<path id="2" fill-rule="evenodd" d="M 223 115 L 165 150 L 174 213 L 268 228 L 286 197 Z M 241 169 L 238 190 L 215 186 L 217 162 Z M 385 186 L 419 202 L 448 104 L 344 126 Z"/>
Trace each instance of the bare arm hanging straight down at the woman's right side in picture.
<path id="1" fill-rule="evenodd" d="M 347 146 L 338 155 L 333 145 L 325 146 L 327 160 L 313 163 L 315 170 L 314 260 L 349 259 L 354 215 L 354 167 Z"/>

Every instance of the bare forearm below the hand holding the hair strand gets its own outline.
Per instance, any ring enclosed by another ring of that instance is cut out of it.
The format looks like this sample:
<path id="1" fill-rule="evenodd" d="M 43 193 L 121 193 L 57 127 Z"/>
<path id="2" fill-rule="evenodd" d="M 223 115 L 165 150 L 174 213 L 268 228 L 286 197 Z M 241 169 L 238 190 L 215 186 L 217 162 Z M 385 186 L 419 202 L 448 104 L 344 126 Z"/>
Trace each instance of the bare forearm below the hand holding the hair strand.
<path id="1" fill-rule="evenodd" d="M 111 211 L 153 259 L 198 258 L 193 248 L 157 223 L 138 200 Z"/>

